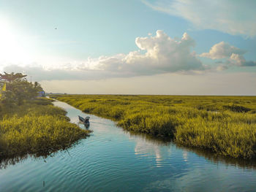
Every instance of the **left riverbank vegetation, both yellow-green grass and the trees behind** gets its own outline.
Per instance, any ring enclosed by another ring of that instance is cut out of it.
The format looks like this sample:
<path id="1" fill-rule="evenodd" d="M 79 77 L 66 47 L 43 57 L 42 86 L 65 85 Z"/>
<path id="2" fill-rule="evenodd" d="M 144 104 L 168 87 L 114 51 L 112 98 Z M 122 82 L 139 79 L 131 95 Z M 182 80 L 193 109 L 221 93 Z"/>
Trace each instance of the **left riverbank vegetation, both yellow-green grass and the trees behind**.
<path id="1" fill-rule="evenodd" d="M 52 99 L 37 97 L 42 91 L 22 74 L 1 74 L 5 80 L 0 99 L 0 161 L 24 155 L 49 155 L 64 150 L 90 131 L 69 123 L 67 112 Z"/>

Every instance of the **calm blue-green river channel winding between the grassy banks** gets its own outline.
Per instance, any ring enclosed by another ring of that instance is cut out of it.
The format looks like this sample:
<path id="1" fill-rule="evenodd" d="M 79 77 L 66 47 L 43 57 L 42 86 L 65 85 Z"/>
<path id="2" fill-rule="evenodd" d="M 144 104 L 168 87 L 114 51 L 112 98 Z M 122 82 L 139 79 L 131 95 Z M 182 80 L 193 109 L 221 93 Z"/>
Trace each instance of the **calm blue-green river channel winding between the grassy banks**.
<path id="1" fill-rule="evenodd" d="M 124 131 L 63 102 L 55 105 L 73 123 L 78 115 L 90 116 L 93 134 L 53 157 L 0 169 L 0 191 L 255 191 L 255 162 L 188 150 Z"/>

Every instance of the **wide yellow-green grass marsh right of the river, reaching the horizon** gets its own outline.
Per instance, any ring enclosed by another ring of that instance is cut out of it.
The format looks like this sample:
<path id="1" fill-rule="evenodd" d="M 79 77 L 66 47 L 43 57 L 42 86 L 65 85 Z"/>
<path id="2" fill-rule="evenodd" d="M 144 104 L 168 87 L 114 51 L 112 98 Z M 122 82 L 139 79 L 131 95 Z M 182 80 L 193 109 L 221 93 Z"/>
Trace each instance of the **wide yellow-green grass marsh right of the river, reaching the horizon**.
<path id="1" fill-rule="evenodd" d="M 234 158 L 256 157 L 255 96 L 54 96 L 129 131 L 172 137 Z"/>

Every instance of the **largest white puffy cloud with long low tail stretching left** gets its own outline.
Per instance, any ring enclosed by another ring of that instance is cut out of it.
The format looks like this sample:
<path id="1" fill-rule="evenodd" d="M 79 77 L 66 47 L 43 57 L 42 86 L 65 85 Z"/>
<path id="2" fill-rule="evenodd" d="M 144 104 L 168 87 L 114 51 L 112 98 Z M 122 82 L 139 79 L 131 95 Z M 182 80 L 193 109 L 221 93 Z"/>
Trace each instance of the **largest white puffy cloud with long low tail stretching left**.
<path id="1" fill-rule="evenodd" d="M 109 77 L 135 77 L 172 72 L 198 72 L 206 69 L 192 52 L 195 41 L 184 33 L 181 39 L 172 39 L 164 31 L 155 36 L 137 37 L 140 50 L 128 54 L 88 58 L 86 61 L 56 66 L 5 66 L 7 72 L 33 74 L 39 80 L 104 79 Z"/>

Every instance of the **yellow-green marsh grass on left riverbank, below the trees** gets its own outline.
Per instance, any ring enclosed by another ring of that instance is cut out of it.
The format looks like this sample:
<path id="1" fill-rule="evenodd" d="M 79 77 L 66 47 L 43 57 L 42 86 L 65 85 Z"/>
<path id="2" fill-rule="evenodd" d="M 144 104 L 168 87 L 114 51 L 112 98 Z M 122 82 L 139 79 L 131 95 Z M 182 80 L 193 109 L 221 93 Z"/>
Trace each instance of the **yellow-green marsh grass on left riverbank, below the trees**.
<path id="1" fill-rule="evenodd" d="M 69 123 L 67 112 L 49 99 L 34 99 L 15 109 L 0 111 L 0 159 L 49 155 L 89 135 Z"/>

